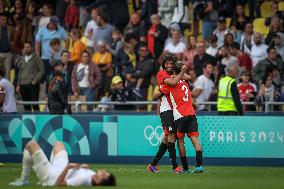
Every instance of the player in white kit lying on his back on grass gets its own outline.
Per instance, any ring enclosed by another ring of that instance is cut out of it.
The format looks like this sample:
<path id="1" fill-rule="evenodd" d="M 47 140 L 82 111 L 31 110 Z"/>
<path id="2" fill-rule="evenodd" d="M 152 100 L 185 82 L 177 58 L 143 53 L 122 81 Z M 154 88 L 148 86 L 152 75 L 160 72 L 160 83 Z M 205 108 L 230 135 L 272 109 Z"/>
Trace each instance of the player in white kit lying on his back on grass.
<path id="1" fill-rule="evenodd" d="M 69 163 L 65 146 L 61 142 L 54 144 L 50 161 L 37 142 L 28 142 L 23 152 L 21 178 L 9 185 L 28 185 L 31 169 L 42 186 L 115 186 L 115 177 L 106 170 L 94 172 L 87 164 Z"/>

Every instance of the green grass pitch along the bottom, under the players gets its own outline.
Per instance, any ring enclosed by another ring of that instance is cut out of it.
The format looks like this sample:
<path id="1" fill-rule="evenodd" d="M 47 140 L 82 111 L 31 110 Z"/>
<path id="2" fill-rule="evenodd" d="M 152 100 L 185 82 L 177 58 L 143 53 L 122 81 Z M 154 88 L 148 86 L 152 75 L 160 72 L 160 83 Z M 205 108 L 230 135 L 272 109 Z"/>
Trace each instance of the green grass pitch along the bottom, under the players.
<path id="1" fill-rule="evenodd" d="M 146 165 L 91 165 L 92 169 L 106 168 L 117 178 L 116 188 L 138 189 L 272 189 L 284 188 L 284 168 L 270 167 L 206 167 L 203 174 L 173 174 L 170 166 L 160 166 L 160 173 L 148 173 Z M 20 164 L 5 164 L 0 167 L 0 189 L 13 188 L 8 183 L 19 177 Z M 42 188 L 36 185 L 36 177 L 31 175 L 28 187 Z M 22 188 L 22 187 L 20 187 Z M 62 188 L 62 187 L 52 187 Z M 88 188 L 88 187 L 76 187 Z M 96 187 L 108 188 L 108 187 Z M 112 187 L 110 187 L 112 188 Z"/>

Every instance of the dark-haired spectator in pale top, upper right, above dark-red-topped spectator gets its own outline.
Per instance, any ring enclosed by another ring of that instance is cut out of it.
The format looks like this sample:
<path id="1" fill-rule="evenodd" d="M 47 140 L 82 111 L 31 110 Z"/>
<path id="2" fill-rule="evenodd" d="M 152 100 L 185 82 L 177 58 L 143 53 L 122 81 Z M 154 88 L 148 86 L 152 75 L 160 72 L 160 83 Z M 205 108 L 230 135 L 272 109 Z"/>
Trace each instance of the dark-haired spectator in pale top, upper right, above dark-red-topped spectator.
<path id="1" fill-rule="evenodd" d="M 253 35 L 254 35 L 253 25 L 252 23 L 248 22 L 246 23 L 245 32 L 241 37 L 240 45 L 241 45 L 241 50 L 249 55 L 251 54 L 251 48 L 254 44 Z"/>

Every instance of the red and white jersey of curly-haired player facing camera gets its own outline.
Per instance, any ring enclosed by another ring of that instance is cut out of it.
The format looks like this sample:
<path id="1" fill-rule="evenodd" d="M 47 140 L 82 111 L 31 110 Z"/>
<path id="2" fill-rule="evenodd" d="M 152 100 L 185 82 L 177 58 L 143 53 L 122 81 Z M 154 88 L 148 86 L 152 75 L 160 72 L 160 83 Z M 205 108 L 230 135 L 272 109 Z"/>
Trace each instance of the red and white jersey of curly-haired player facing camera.
<path id="1" fill-rule="evenodd" d="M 169 77 L 171 77 L 171 76 L 170 76 L 170 74 L 167 71 L 160 70 L 158 72 L 158 74 L 157 74 L 157 81 L 158 81 L 159 87 L 161 85 L 163 85 L 164 84 L 164 80 L 166 78 L 169 78 Z M 162 100 L 161 100 L 160 113 L 168 111 L 168 110 L 172 110 L 172 109 L 173 109 L 173 105 L 171 103 L 169 95 L 163 96 Z"/>

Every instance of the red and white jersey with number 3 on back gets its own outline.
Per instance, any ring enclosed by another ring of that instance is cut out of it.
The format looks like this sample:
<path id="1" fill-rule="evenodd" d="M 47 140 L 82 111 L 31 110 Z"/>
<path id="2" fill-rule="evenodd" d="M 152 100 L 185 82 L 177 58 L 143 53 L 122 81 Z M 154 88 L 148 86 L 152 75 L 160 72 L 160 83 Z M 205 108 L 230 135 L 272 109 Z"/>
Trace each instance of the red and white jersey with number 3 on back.
<path id="1" fill-rule="evenodd" d="M 189 115 L 195 115 L 187 82 L 180 80 L 174 87 L 162 85 L 160 86 L 160 90 L 170 96 L 173 105 L 174 120 Z"/>

